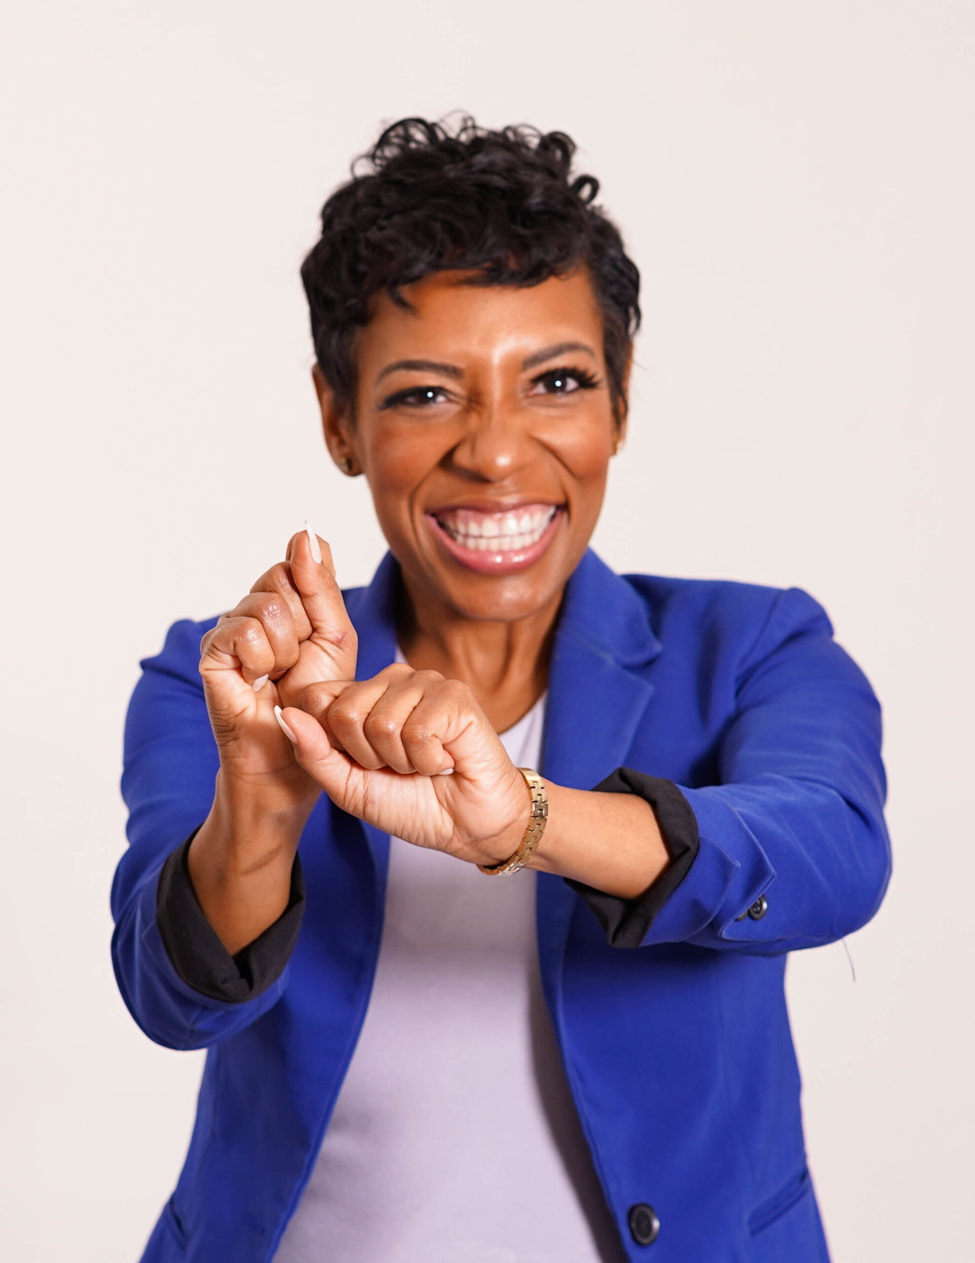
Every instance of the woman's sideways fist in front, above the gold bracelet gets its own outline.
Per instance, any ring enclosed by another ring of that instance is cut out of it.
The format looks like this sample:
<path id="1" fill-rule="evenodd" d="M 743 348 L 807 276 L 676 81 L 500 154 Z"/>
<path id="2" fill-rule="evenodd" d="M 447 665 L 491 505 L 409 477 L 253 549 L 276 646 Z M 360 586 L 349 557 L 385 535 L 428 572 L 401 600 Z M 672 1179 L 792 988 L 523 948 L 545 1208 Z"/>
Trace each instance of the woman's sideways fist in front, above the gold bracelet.
<path id="1" fill-rule="evenodd" d="M 477 864 L 518 847 L 530 794 L 466 685 L 397 664 L 309 685 L 282 720 L 306 773 L 383 832 Z"/>

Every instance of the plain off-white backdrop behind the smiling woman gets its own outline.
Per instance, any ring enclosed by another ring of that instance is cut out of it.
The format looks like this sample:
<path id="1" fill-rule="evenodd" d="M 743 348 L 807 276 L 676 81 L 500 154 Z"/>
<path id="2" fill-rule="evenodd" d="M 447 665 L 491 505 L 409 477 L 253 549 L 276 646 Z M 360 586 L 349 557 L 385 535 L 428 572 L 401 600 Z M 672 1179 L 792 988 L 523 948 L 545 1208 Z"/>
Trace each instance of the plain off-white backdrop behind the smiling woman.
<path id="1" fill-rule="evenodd" d="M 134 1263 L 176 1180 L 201 1055 L 109 959 L 126 698 L 306 517 L 369 578 L 298 265 L 381 121 L 464 107 L 570 131 L 643 273 L 596 547 L 808 589 L 884 703 L 888 899 L 856 981 L 789 964 L 808 1149 L 835 1263 L 970 1259 L 975 6 L 3 10 L 3 1258 Z"/>

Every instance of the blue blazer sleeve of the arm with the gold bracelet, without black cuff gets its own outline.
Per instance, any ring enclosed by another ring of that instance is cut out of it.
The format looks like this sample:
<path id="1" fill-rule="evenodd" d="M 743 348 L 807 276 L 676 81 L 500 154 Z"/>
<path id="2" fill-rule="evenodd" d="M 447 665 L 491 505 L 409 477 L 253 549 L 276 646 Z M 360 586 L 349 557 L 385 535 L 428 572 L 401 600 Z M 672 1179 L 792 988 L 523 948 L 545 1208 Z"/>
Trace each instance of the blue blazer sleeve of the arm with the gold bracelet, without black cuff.
<path id="1" fill-rule="evenodd" d="M 890 877 L 880 707 L 806 592 L 739 664 L 717 784 L 679 786 L 698 849 L 643 943 L 779 954 L 859 930 Z"/>

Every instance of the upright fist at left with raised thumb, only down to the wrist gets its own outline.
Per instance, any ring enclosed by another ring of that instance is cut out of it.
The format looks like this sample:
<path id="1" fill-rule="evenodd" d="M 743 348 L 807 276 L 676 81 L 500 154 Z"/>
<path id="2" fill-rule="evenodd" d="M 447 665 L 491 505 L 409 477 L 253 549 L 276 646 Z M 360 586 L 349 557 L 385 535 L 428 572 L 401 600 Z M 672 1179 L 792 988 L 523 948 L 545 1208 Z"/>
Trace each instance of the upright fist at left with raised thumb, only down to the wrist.
<path id="1" fill-rule="evenodd" d="M 292 537 L 287 560 L 261 575 L 201 644 L 200 673 L 225 788 L 307 796 L 311 783 L 296 774 L 274 707 L 296 705 L 312 682 L 354 678 L 355 666 L 356 634 L 331 551 L 302 530 Z"/>

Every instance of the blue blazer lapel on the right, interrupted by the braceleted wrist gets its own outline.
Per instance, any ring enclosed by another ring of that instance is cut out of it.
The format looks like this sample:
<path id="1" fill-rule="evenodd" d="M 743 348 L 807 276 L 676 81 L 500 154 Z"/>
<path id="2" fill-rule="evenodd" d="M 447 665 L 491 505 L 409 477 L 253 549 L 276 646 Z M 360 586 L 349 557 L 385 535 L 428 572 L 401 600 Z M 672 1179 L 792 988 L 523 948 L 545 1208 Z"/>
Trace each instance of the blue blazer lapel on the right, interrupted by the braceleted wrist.
<path id="1" fill-rule="evenodd" d="M 557 784 L 592 789 L 625 763 L 653 686 L 634 668 L 661 652 L 647 608 L 594 552 L 570 580 L 548 676 L 542 772 Z M 562 959 L 577 895 L 538 874 L 542 983 L 561 1026 Z"/>

